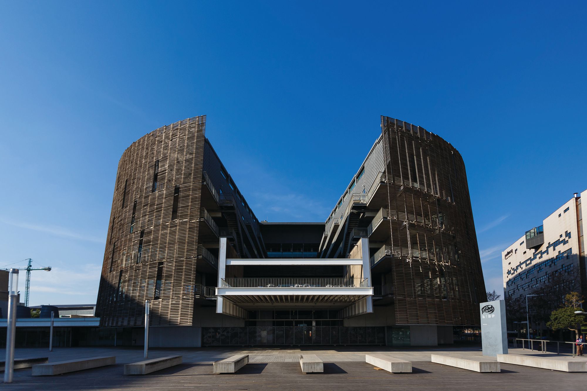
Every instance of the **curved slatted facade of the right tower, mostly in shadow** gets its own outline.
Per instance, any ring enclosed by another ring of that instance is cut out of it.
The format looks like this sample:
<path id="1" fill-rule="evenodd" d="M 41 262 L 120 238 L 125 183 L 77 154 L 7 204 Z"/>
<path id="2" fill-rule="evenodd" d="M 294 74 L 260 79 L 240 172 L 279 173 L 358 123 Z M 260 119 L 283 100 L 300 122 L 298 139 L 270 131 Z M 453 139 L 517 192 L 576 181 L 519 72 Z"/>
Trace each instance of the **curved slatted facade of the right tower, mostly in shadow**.
<path id="1" fill-rule="evenodd" d="M 479 324 L 485 284 L 463 159 L 437 135 L 382 117 L 397 324 Z"/>

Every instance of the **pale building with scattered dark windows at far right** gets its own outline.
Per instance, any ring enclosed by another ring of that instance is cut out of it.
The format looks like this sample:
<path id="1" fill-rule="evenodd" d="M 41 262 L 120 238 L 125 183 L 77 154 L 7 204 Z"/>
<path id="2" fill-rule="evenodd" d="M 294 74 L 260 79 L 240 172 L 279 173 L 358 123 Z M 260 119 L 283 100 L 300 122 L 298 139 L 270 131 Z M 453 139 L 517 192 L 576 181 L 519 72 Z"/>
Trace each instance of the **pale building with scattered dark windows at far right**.
<path id="1" fill-rule="evenodd" d="M 583 219 L 587 211 L 575 193 L 542 224 L 528 230 L 501 253 L 506 298 L 525 297 L 555 276 L 587 293 Z M 569 276 L 567 278 L 566 276 Z"/>

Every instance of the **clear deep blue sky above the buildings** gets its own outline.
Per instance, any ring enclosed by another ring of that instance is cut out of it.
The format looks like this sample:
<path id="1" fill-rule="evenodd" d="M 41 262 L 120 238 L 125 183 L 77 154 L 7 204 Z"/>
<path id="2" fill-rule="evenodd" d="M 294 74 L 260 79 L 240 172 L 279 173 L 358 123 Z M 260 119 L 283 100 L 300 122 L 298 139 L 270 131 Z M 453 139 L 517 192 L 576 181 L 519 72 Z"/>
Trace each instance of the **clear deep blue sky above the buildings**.
<path id="1" fill-rule="evenodd" d="M 488 290 L 501 250 L 587 188 L 587 4 L 3 2 L 0 266 L 93 303 L 120 155 L 207 114 L 259 219 L 323 221 L 379 115 L 463 155 Z"/>

